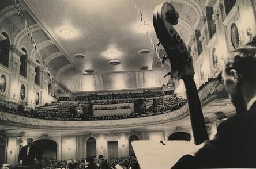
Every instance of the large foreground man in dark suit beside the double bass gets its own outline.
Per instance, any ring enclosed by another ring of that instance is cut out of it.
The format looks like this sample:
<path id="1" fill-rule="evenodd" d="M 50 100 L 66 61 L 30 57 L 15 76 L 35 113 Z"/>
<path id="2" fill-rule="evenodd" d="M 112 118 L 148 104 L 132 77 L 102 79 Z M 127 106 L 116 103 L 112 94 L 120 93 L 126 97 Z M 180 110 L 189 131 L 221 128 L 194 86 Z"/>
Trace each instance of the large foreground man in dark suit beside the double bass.
<path id="1" fill-rule="evenodd" d="M 194 156 L 183 156 L 172 168 L 256 168 L 255 40 L 229 54 L 223 81 L 237 114 Z"/>

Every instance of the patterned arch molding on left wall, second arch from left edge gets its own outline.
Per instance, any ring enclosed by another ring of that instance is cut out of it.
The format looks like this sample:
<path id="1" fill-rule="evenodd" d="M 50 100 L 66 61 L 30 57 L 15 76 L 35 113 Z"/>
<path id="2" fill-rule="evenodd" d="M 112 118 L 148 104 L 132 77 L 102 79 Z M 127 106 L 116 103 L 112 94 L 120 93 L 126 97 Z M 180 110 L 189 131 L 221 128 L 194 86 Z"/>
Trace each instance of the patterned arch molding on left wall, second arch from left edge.
<path id="1" fill-rule="evenodd" d="M 40 27 L 39 24 L 33 24 L 33 25 L 29 25 L 29 28 L 31 30 L 31 32 L 35 32 L 37 30 L 42 30 L 42 28 Z M 14 37 L 13 40 L 13 45 L 18 45 L 18 47 L 20 47 L 21 41 L 28 36 L 28 28 L 23 28 L 21 29 L 16 36 Z"/>

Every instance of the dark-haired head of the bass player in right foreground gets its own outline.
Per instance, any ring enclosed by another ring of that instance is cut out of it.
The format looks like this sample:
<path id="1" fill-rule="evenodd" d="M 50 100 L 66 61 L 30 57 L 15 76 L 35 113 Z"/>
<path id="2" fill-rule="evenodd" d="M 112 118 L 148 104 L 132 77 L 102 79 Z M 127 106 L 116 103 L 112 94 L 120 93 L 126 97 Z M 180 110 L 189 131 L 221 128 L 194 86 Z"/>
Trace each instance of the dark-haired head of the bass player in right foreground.
<path id="1" fill-rule="evenodd" d="M 224 85 L 236 109 L 256 95 L 256 45 L 247 44 L 229 53 L 223 68 Z"/>

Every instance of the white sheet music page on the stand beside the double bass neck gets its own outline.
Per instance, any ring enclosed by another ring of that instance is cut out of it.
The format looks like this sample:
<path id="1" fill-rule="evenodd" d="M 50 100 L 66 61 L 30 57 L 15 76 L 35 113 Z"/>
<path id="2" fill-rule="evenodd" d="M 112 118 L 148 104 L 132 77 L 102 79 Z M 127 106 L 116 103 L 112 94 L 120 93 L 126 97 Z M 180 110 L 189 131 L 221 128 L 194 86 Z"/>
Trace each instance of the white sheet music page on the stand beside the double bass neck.
<path id="1" fill-rule="evenodd" d="M 193 141 L 132 141 L 134 153 L 141 169 L 170 169 L 186 154 L 194 155 L 203 144 L 196 146 Z"/>

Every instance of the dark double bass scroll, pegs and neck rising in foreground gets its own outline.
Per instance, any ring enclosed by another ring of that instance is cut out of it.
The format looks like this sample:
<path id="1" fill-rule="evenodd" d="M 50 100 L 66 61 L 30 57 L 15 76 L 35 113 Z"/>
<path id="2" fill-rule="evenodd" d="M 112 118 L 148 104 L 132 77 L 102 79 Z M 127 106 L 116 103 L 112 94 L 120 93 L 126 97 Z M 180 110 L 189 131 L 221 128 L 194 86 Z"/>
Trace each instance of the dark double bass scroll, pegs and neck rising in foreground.
<path id="1" fill-rule="evenodd" d="M 193 130 L 194 143 L 201 144 L 208 140 L 201 103 L 194 82 L 194 68 L 192 57 L 173 25 L 178 24 L 179 14 L 171 3 L 164 2 L 156 6 L 153 12 L 153 25 L 156 35 L 163 45 L 166 56 L 162 57 L 162 63 L 167 60 L 171 63 L 172 78 L 183 79 L 187 101 L 189 104 L 190 121 Z"/>

